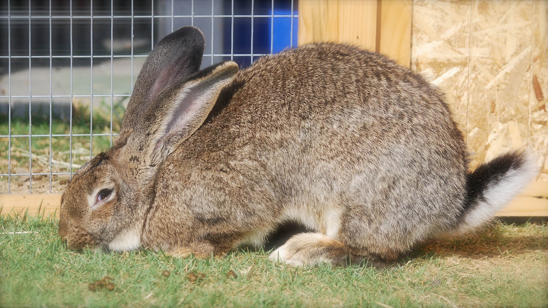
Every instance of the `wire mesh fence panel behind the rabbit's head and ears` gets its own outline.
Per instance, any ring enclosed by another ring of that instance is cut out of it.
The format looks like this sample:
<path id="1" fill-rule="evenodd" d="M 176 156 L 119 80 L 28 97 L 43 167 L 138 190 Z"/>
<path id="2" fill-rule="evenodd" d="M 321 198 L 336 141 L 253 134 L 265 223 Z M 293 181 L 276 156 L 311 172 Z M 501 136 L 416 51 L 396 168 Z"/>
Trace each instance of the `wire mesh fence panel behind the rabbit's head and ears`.
<path id="1" fill-rule="evenodd" d="M 202 67 L 293 47 L 296 0 L 5 1 L 0 4 L 0 193 L 55 193 L 112 145 L 153 46 L 206 37 Z"/>

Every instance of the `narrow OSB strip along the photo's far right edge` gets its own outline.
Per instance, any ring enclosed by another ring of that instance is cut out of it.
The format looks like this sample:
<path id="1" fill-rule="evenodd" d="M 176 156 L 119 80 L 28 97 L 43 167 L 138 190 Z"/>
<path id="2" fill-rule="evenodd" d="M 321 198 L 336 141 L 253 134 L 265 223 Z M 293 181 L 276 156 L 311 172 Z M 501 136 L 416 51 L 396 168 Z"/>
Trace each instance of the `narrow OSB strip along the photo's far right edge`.
<path id="1" fill-rule="evenodd" d="M 539 153 L 540 181 L 548 181 L 548 2 L 533 2 L 533 53 L 529 90 L 529 145 Z"/>

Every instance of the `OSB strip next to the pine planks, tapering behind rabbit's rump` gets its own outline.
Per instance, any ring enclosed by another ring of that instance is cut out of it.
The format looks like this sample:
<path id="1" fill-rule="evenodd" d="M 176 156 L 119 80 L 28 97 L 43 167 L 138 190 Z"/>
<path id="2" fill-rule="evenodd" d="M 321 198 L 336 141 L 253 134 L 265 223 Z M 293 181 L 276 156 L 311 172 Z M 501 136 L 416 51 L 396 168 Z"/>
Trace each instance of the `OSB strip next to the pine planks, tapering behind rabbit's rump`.
<path id="1" fill-rule="evenodd" d="M 413 3 L 412 69 L 440 87 L 466 136 L 470 0 Z"/>

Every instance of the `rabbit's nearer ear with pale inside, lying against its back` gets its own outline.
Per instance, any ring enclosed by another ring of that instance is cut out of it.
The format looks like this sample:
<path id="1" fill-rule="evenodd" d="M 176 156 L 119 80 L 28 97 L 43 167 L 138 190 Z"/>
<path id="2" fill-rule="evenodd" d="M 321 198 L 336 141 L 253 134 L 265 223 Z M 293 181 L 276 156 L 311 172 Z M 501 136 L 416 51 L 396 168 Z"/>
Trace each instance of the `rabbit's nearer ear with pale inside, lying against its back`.
<path id="1" fill-rule="evenodd" d="M 221 62 L 159 95 L 141 117 L 141 127 L 132 140 L 144 150 L 146 161 L 162 162 L 176 145 L 196 132 L 237 72 L 236 62 Z"/>

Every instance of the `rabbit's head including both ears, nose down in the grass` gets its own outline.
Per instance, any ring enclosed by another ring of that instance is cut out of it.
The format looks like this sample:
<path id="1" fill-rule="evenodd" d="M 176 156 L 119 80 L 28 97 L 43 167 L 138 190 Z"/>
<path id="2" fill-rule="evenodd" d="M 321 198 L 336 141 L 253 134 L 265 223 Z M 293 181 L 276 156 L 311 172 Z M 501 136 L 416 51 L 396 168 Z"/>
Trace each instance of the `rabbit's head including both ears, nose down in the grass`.
<path id="1" fill-rule="evenodd" d="M 203 124 L 238 71 L 227 61 L 198 72 L 204 47 L 198 28 L 183 27 L 147 57 L 111 149 L 80 168 L 61 198 L 59 235 L 68 248 L 140 246 L 158 168 Z"/>

